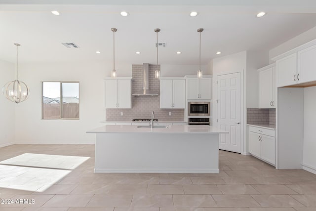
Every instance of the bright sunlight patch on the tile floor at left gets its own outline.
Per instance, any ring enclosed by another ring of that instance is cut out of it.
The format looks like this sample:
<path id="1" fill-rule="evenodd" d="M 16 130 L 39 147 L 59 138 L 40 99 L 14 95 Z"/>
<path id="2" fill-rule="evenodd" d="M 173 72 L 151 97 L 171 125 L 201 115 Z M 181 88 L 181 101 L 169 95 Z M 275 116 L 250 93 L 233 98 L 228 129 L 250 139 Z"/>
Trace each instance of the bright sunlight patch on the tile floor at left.
<path id="1" fill-rule="evenodd" d="M 90 157 L 25 153 L 0 162 L 0 188 L 45 191 Z"/>

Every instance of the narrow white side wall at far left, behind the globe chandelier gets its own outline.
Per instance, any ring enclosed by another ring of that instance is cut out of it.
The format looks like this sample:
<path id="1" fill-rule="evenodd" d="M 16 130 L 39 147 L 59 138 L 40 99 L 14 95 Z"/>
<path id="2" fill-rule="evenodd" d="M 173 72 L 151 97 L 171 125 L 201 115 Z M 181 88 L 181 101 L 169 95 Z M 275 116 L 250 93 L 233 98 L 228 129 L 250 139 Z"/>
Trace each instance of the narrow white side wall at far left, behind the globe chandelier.
<path id="1" fill-rule="evenodd" d="M 14 64 L 0 61 L 0 87 L 15 79 Z M 2 90 L 2 89 L 1 89 Z M 2 92 L 2 91 L 1 91 Z M 15 103 L 0 94 L 0 147 L 14 143 Z"/>

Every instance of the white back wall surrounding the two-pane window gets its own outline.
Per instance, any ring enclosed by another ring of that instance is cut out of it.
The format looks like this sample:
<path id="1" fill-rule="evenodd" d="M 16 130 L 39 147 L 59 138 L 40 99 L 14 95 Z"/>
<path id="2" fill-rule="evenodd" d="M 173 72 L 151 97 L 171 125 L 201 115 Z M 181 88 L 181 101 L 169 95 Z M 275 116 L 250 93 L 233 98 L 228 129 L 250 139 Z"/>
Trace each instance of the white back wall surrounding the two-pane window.
<path id="1" fill-rule="evenodd" d="M 19 77 L 30 87 L 30 97 L 15 110 L 16 143 L 93 143 L 87 130 L 105 119 L 103 78 L 111 72 L 104 63 L 20 64 Z M 118 70 L 118 69 L 117 69 Z M 80 120 L 42 120 L 41 82 L 79 81 Z"/>

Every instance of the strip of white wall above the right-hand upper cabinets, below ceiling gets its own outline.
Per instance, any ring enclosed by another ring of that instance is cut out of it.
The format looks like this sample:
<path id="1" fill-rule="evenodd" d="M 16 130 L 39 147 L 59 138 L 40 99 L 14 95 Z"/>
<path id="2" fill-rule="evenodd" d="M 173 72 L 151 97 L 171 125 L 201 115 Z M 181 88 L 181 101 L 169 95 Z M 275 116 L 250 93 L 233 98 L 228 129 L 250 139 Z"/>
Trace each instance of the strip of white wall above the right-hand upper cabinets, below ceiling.
<path id="1" fill-rule="evenodd" d="M 315 39 L 316 39 L 316 27 L 271 49 L 269 52 L 270 54 L 269 57 L 270 59 L 272 59 L 273 57 L 276 57 L 282 53 L 285 53 L 286 51 L 289 51 L 295 47 L 298 47 L 306 42 L 310 42 Z"/>

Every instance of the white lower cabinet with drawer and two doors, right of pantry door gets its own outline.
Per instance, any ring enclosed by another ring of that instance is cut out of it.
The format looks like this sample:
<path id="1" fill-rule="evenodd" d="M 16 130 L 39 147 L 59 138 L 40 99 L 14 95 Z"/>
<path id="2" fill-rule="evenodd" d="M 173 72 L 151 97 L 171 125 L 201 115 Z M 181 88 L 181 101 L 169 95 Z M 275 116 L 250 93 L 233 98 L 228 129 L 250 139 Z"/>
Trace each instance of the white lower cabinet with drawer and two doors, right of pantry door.
<path id="1" fill-rule="evenodd" d="M 275 130 L 261 127 L 248 127 L 249 153 L 276 165 Z"/>

